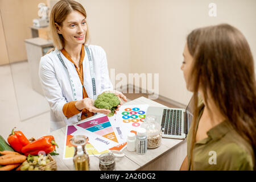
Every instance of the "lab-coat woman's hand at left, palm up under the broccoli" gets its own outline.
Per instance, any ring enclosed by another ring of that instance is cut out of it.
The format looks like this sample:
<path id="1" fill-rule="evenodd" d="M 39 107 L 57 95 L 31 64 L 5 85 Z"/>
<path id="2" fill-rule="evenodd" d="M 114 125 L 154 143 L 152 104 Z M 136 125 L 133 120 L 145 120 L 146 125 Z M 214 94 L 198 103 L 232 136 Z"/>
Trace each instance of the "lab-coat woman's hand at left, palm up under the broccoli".
<path id="1" fill-rule="evenodd" d="M 81 101 L 77 101 L 75 104 L 76 108 L 78 110 L 87 109 L 91 113 L 103 113 L 103 114 L 109 114 L 111 111 L 108 109 L 98 109 L 94 106 L 94 100 L 92 98 L 84 98 Z"/>

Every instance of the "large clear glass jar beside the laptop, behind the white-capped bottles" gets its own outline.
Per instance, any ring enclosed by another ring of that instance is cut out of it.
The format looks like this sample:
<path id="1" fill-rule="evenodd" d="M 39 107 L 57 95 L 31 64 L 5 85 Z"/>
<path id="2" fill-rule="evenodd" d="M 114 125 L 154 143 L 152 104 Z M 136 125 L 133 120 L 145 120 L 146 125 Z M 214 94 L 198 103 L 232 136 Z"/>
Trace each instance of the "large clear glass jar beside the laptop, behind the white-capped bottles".
<path id="1" fill-rule="evenodd" d="M 147 131 L 147 148 L 157 148 L 162 142 L 162 130 L 154 115 L 147 115 L 141 127 Z"/>

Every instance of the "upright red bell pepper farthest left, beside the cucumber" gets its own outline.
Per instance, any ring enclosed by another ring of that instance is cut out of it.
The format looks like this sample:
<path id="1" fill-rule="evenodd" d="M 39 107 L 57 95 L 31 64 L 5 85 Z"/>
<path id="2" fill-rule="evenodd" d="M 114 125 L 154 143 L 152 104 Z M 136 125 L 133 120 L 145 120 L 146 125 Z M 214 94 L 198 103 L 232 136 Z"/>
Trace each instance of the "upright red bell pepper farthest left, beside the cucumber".
<path id="1" fill-rule="evenodd" d="M 25 137 L 25 135 L 21 131 L 14 131 L 14 129 L 11 131 L 11 134 L 7 138 L 7 141 L 16 152 L 21 153 L 22 147 L 29 144 L 30 141 Z"/>

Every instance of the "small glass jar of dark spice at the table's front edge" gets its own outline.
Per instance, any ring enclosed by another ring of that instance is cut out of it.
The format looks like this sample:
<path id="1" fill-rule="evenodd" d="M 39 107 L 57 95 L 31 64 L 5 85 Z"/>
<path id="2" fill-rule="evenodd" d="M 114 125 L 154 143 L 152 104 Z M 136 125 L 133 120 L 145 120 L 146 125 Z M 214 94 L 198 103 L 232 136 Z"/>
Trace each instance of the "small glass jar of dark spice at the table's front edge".
<path id="1" fill-rule="evenodd" d="M 101 171 L 114 171 L 115 170 L 115 156 L 112 152 L 100 155 L 100 164 L 98 168 Z"/>

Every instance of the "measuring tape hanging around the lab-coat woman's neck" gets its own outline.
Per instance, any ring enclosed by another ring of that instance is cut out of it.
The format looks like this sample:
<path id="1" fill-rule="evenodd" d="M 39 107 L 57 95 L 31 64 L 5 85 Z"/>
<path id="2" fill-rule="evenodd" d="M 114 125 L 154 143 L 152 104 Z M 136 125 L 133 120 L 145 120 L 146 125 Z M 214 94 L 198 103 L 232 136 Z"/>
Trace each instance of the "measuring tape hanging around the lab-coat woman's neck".
<path id="1" fill-rule="evenodd" d="M 96 100 L 96 84 L 95 84 L 95 74 L 94 74 L 94 69 L 93 69 L 93 61 L 92 61 L 92 57 L 90 56 L 90 51 L 89 51 L 89 48 L 86 46 L 85 47 L 86 49 L 86 52 L 88 54 L 88 59 L 89 59 L 89 67 L 90 67 L 90 77 L 92 78 L 92 88 L 93 88 L 93 100 Z M 68 68 L 67 66 L 65 65 L 62 57 L 60 56 L 60 51 L 57 52 L 57 56 L 59 57 L 59 60 L 61 62 L 61 64 L 63 65 L 63 67 L 66 69 L 68 75 L 69 75 L 69 82 L 71 84 L 71 88 L 72 88 L 72 94 L 73 94 L 73 100 L 74 101 L 77 101 L 77 94 L 76 94 L 76 89 L 75 89 L 75 85 L 73 84 L 73 79 L 71 77 L 71 74 L 69 73 L 68 71 Z M 82 83 L 83 86 L 84 86 L 84 83 Z M 94 113 L 94 115 L 96 115 L 97 113 Z M 82 115 L 82 112 L 77 114 L 77 120 L 78 122 L 81 121 L 81 115 Z"/>

